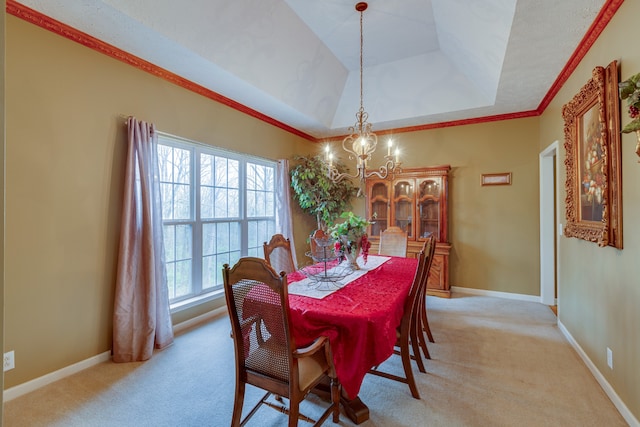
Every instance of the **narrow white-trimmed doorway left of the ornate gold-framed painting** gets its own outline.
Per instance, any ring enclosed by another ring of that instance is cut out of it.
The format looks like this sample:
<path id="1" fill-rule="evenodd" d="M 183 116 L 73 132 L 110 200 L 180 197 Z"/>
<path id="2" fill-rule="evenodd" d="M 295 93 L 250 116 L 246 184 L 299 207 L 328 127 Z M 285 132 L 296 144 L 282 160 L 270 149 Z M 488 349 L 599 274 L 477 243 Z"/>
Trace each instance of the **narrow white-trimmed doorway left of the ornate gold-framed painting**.
<path id="1" fill-rule="evenodd" d="M 559 142 L 540 153 L 540 302 L 556 305 L 557 188 Z"/>

